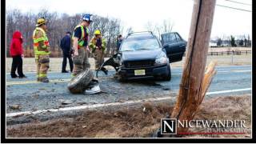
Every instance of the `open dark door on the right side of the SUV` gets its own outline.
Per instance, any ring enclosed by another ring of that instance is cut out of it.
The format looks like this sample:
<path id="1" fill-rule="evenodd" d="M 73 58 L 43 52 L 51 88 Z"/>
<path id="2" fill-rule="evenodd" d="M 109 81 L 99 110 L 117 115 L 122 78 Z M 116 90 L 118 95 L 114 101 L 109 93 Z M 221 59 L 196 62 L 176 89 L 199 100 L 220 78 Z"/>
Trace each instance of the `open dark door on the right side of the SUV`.
<path id="1" fill-rule="evenodd" d="M 186 42 L 182 37 L 174 32 L 161 34 L 162 46 L 166 50 L 169 62 L 182 61 L 182 57 L 186 51 Z"/>

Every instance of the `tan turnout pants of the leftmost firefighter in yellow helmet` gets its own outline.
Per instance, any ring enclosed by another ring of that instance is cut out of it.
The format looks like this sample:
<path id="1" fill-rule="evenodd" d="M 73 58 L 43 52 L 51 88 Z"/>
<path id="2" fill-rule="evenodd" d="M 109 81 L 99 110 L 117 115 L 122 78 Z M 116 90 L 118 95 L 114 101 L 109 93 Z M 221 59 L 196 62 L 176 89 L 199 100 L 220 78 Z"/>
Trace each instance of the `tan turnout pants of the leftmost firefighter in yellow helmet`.
<path id="1" fill-rule="evenodd" d="M 35 63 L 37 65 L 37 78 L 42 80 L 47 79 L 47 70 L 49 69 L 49 54 L 38 54 L 35 58 Z"/>

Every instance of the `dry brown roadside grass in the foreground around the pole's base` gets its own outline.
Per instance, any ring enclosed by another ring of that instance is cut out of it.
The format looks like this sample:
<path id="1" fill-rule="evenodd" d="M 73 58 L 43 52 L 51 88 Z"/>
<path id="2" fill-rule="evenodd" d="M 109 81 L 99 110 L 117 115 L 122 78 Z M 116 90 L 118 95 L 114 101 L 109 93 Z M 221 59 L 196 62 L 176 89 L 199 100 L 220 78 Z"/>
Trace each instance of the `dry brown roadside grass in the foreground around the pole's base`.
<path id="1" fill-rule="evenodd" d="M 202 103 L 194 119 L 244 119 L 251 134 L 251 95 L 211 98 Z M 160 118 L 170 114 L 173 106 L 166 102 L 146 102 L 121 109 L 85 111 L 76 118 L 7 127 L 7 137 L 18 138 L 145 138 L 160 126 Z M 190 130 L 198 131 L 198 130 Z M 193 137 L 202 137 L 194 135 Z M 209 136 L 206 136 L 209 137 Z M 222 137 L 222 135 L 213 136 Z M 225 135 L 225 137 L 246 137 Z"/>

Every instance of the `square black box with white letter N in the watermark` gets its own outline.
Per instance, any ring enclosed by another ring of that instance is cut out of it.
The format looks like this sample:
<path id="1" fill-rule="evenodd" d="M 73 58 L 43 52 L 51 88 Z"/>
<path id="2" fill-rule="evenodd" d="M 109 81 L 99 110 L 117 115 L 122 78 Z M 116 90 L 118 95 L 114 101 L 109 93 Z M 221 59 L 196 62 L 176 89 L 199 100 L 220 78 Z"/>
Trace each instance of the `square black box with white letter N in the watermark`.
<path id="1" fill-rule="evenodd" d="M 177 134 L 177 119 L 161 118 L 161 134 Z"/>

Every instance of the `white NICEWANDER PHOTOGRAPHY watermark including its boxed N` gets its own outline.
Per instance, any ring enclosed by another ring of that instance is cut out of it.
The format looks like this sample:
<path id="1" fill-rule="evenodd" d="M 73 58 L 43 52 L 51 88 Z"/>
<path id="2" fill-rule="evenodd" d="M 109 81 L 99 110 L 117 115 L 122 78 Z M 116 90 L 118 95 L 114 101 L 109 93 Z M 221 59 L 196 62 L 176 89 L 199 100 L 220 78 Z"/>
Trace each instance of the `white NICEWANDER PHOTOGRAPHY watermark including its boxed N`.
<path id="1" fill-rule="evenodd" d="M 198 129 L 200 132 L 178 134 L 246 134 L 245 120 L 177 120 L 161 119 L 161 134 L 177 134 L 177 128 Z"/>

